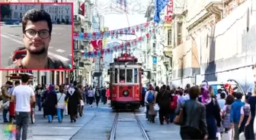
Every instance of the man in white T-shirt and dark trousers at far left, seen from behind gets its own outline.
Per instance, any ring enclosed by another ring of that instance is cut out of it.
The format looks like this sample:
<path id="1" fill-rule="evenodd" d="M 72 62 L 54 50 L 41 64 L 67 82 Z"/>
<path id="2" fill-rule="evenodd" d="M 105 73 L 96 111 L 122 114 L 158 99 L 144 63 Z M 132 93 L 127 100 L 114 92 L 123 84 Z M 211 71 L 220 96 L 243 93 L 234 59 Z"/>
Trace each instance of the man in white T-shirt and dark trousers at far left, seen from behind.
<path id="1" fill-rule="evenodd" d="M 21 85 L 16 86 L 12 93 L 11 101 L 16 103 L 16 139 L 27 139 L 28 120 L 30 116 L 30 102 L 35 103 L 34 91 L 27 86 L 29 76 L 27 74 L 21 75 Z M 21 138 L 22 129 L 22 138 Z"/>

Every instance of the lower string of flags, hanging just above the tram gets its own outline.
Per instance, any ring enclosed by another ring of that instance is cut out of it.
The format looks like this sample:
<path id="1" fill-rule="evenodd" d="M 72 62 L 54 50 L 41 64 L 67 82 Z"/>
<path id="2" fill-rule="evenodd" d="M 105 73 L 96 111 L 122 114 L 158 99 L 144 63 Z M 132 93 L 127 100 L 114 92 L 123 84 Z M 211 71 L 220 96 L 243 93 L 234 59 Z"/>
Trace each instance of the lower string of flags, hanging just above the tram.
<path id="1" fill-rule="evenodd" d="M 107 47 L 102 48 L 98 51 L 85 51 L 84 57 L 85 58 L 98 58 L 103 56 L 104 54 L 113 54 L 114 51 L 120 51 L 125 50 L 130 51 L 130 48 L 132 46 L 138 45 L 138 43 L 144 42 L 146 40 L 151 39 L 153 36 L 155 36 L 155 33 L 150 32 L 146 33 L 144 36 L 140 36 L 138 39 L 134 39 L 133 41 L 121 43 L 119 45 L 107 45 Z"/>

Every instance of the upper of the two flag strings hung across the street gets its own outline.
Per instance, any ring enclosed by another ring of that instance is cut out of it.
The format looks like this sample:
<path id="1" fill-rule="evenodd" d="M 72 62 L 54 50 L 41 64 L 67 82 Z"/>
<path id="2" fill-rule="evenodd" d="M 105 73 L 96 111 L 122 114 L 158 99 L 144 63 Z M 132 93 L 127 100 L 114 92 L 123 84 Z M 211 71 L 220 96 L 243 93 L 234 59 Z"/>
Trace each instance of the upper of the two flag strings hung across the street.
<path id="1" fill-rule="evenodd" d="M 93 33 L 73 33 L 73 39 L 75 40 L 91 40 L 91 39 L 103 39 L 111 37 L 112 39 L 117 38 L 119 36 L 123 36 L 123 34 L 133 34 L 136 32 L 145 32 L 147 28 L 153 27 L 155 30 L 154 22 L 141 23 L 136 26 L 129 26 L 119 30 L 110 30 L 110 31 L 101 31 L 101 32 L 93 32 Z"/>

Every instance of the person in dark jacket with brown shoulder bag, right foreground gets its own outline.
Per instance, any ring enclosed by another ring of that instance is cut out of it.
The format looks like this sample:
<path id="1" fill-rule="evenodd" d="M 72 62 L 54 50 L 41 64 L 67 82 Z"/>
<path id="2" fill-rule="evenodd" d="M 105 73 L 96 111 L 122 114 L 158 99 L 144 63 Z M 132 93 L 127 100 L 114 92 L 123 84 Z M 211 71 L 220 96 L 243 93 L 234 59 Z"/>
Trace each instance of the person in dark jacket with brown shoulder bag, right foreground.
<path id="1" fill-rule="evenodd" d="M 181 106 L 178 106 L 178 116 L 180 111 L 184 111 L 184 122 L 181 124 L 182 140 L 207 140 L 208 130 L 206 125 L 206 107 L 197 101 L 200 89 L 193 86 L 189 89 L 190 98 Z"/>

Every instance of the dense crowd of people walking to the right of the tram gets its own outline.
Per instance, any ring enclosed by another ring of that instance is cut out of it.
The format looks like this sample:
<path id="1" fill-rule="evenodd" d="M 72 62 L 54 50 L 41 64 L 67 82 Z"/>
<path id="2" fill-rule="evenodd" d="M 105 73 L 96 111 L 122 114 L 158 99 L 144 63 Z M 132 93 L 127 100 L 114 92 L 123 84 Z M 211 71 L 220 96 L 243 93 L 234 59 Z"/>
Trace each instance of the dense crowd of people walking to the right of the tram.
<path id="1" fill-rule="evenodd" d="M 214 94 L 206 83 L 184 89 L 150 85 L 142 90 L 146 119 L 155 123 L 158 114 L 161 125 L 181 126 L 183 140 L 221 140 L 224 133 L 229 140 L 254 140 L 256 88 L 243 95 L 226 87 Z"/>

